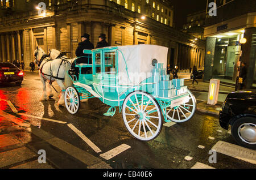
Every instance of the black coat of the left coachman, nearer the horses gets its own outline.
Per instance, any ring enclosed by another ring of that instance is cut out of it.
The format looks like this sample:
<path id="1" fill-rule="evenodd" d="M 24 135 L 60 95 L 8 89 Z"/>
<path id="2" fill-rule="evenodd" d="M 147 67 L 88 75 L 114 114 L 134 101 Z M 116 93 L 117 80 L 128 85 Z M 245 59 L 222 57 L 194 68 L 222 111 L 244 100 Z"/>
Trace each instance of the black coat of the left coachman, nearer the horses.
<path id="1" fill-rule="evenodd" d="M 82 42 L 79 42 L 79 45 L 76 48 L 76 57 L 88 57 L 88 54 L 84 54 L 83 50 L 84 49 L 94 49 L 94 46 L 92 44 L 92 42 L 90 42 L 89 40 L 85 40 Z M 79 58 L 76 60 L 76 63 L 92 63 L 92 58 Z"/>

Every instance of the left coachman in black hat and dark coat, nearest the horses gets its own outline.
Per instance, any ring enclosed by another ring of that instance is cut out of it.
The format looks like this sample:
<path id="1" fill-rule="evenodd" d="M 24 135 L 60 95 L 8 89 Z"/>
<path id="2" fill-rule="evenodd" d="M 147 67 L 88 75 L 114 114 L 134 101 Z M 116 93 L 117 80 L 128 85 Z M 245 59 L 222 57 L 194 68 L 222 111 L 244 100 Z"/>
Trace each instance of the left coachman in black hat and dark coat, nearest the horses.
<path id="1" fill-rule="evenodd" d="M 91 65 L 92 64 L 92 57 L 89 57 L 89 54 L 84 54 L 84 49 L 94 49 L 94 45 L 92 42 L 90 42 L 90 35 L 88 33 L 84 33 L 84 35 L 81 36 L 81 42 L 79 42 L 79 45 L 76 48 L 76 57 L 81 57 L 76 59 L 76 64 L 79 63 L 86 63 Z M 86 74 L 88 70 L 92 70 L 92 67 L 86 67 L 82 68 L 82 74 Z M 71 70 L 69 71 L 71 74 L 78 74 L 78 69 L 75 68 L 75 62 L 72 63 Z"/>

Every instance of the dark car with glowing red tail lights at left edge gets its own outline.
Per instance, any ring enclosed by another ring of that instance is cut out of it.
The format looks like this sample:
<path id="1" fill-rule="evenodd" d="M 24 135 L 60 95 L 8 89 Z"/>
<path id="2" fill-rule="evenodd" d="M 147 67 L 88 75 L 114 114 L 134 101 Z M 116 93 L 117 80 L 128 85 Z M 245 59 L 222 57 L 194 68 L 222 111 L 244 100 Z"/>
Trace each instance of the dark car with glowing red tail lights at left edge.
<path id="1" fill-rule="evenodd" d="M 22 84 L 23 71 L 12 63 L 0 63 L 0 84 L 16 83 Z"/>

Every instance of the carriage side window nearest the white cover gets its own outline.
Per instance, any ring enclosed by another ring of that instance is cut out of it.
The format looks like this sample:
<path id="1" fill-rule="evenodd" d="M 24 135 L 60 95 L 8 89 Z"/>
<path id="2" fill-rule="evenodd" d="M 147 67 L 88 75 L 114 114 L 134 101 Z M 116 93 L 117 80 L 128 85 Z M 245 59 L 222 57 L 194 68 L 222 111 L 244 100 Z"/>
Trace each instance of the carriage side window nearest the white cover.
<path id="1" fill-rule="evenodd" d="M 105 59 L 105 73 L 115 74 L 115 52 L 105 53 L 104 59 Z"/>

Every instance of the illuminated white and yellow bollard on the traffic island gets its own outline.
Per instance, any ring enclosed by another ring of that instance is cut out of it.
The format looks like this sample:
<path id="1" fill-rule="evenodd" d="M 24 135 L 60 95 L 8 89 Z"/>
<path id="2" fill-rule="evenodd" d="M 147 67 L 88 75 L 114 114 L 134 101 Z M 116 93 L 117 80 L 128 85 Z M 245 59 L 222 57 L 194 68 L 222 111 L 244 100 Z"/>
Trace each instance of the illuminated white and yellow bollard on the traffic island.
<path id="1" fill-rule="evenodd" d="M 216 105 L 218 102 L 218 90 L 220 89 L 219 79 L 210 79 L 207 104 Z"/>

